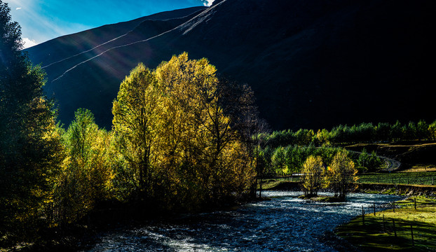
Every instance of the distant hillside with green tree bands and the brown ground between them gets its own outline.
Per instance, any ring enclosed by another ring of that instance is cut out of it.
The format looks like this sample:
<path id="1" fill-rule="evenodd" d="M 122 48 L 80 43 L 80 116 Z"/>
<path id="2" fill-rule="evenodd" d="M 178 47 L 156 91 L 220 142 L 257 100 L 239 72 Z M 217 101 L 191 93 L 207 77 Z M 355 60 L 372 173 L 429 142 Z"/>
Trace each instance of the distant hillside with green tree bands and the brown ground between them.
<path id="1" fill-rule="evenodd" d="M 306 129 L 282 130 L 258 134 L 256 139 L 261 140 L 259 156 L 264 176 L 299 174 L 304 161 L 311 155 L 319 155 L 328 166 L 333 156 L 343 149 L 348 151 L 360 173 L 388 168 L 392 159 L 400 162 L 401 166 L 396 169 L 428 167 L 430 171 L 436 164 L 436 144 L 423 144 L 423 141 L 436 140 L 436 121 L 430 124 L 421 120 L 406 124 L 397 121 L 395 124 L 339 125 L 316 133 Z M 378 144 L 380 142 L 385 144 Z"/>

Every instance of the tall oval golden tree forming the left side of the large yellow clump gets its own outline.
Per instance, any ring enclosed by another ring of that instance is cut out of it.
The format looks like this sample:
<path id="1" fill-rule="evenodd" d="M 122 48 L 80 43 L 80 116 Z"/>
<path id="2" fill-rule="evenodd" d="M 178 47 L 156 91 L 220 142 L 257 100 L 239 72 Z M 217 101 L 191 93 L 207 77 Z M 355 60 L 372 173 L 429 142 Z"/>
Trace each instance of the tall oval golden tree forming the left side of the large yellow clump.
<path id="1" fill-rule="evenodd" d="M 114 101 L 114 132 L 121 137 L 118 144 L 128 166 L 132 183 L 142 197 L 151 193 L 151 176 L 156 154 L 161 116 L 161 97 L 155 87 L 156 78 L 144 64 L 139 64 L 123 80 Z"/>

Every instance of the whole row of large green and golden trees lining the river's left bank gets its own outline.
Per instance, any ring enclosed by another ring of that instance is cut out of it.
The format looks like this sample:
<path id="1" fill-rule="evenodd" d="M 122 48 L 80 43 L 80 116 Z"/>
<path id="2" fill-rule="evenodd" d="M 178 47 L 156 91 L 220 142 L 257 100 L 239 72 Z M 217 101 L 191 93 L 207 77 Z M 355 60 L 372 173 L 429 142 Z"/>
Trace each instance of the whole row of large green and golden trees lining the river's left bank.
<path id="1" fill-rule="evenodd" d="M 132 69 L 110 131 L 87 109 L 64 130 L 43 94 L 45 73 L 22 53 L 20 26 L 0 7 L 1 245 L 79 221 L 102 202 L 198 211 L 254 192 L 260 120 L 250 87 L 219 80 L 207 59 L 183 53 Z"/>

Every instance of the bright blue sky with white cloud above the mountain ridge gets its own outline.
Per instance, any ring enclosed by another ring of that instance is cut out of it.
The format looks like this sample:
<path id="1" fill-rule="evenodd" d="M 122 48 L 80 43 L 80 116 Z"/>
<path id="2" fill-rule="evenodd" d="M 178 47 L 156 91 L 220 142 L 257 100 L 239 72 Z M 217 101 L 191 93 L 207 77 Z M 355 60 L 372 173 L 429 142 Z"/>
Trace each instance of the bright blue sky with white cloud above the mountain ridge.
<path id="1" fill-rule="evenodd" d="M 21 26 L 25 47 L 78 31 L 213 0 L 4 0 Z"/>

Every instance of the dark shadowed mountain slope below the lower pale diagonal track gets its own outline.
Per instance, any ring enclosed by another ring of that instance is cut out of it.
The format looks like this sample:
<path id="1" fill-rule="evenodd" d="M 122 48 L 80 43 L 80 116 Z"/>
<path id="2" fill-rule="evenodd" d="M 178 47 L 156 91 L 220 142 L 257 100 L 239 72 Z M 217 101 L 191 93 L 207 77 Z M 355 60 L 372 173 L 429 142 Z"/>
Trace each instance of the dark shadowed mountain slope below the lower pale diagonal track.
<path id="1" fill-rule="evenodd" d="M 252 85 L 261 116 L 275 129 L 434 120 L 433 9 L 422 0 L 226 0 L 51 84 L 62 122 L 86 107 L 109 127 L 111 101 L 130 69 L 187 51 Z"/>

